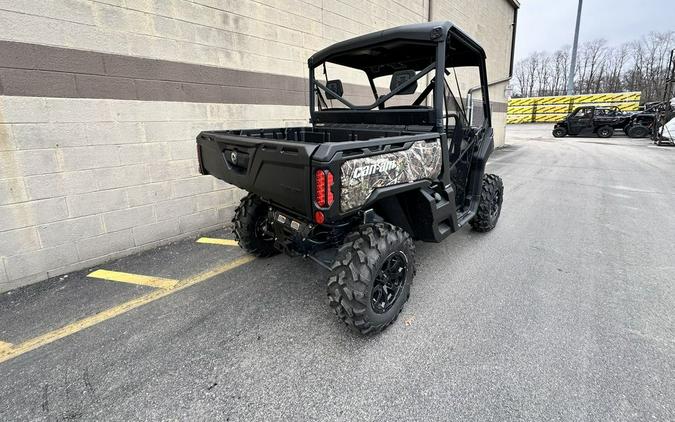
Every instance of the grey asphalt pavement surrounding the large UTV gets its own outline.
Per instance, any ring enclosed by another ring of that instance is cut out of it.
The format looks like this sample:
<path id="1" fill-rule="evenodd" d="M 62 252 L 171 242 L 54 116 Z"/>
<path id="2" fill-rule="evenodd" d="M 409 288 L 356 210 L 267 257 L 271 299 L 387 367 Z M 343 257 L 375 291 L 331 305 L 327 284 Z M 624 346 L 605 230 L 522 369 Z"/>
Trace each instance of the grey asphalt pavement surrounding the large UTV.
<path id="1" fill-rule="evenodd" d="M 381 335 L 337 320 L 311 261 L 222 267 L 244 254 L 195 239 L 97 267 L 194 282 L 118 314 L 154 289 L 0 295 L 0 341 L 63 334 L 0 363 L 0 420 L 675 420 L 675 148 L 550 129 L 508 127 L 497 228 L 417 243 Z"/>

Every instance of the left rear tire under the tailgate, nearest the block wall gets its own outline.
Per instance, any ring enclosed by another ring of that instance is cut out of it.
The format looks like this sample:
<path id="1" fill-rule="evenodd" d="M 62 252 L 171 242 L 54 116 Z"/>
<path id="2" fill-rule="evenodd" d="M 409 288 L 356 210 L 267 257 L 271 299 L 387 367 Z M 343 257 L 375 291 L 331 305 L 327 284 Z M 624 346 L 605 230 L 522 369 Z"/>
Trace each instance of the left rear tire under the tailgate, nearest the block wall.
<path id="1" fill-rule="evenodd" d="M 267 234 L 267 205 L 257 195 L 251 193 L 241 200 L 232 223 L 234 237 L 246 252 L 260 257 L 278 253 L 274 238 Z"/>

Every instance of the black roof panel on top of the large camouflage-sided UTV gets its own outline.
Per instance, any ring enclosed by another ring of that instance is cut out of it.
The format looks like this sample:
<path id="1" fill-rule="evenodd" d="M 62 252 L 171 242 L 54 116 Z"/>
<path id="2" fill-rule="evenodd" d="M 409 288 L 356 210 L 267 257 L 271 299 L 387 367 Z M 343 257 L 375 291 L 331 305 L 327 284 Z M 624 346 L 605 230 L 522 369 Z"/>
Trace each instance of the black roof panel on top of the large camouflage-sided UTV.
<path id="1" fill-rule="evenodd" d="M 447 37 L 446 66 L 477 64 L 485 51 L 452 22 L 426 22 L 398 26 L 361 35 L 324 48 L 309 58 L 309 66 L 324 61 L 361 69 L 372 77 L 390 75 L 396 70 L 421 70 L 436 59 L 437 43 Z"/>

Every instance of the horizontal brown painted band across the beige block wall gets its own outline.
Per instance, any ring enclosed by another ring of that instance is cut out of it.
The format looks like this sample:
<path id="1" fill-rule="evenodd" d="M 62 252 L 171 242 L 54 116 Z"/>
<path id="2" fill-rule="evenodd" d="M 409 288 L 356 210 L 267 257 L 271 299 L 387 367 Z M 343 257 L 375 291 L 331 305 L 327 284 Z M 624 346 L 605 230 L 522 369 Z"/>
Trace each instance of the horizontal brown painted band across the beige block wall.
<path id="1" fill-rule="evenodd" d="M 272 73 L 0 41 L 0 95 L 303 106 L 308 83 Z M 373 100 L 369 87 L 345 86 L 364 103 Z M 492 108 L 506 111 L 503 103 Z"/>

